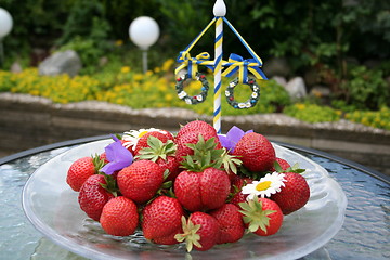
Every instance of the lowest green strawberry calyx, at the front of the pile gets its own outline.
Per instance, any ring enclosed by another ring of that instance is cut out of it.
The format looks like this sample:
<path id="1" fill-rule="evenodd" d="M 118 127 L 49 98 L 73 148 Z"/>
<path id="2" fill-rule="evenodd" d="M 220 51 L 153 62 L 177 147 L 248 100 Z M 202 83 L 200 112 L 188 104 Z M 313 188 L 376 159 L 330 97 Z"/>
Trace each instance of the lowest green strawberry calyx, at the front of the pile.
<path id="1" fill-rule="evenodd" d="M 182 220 L 183 234 L 177 234 L 174 236 L 174 239 L 177 239 L 180 243 L 185 242 L 187 252 L 192 251 L 194 245 L 202 248 L 202 245 L 199 243 L 200 235 L 197 234 L 197 232 L 200 229 L 200 225 L 194 224 L 190 219 L 187 221 L 184 216 L 182 216 L 181 220 Z"/>

